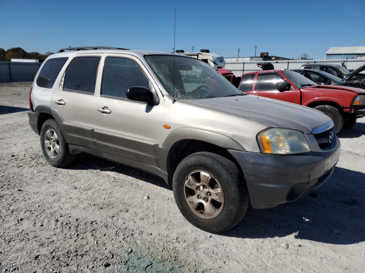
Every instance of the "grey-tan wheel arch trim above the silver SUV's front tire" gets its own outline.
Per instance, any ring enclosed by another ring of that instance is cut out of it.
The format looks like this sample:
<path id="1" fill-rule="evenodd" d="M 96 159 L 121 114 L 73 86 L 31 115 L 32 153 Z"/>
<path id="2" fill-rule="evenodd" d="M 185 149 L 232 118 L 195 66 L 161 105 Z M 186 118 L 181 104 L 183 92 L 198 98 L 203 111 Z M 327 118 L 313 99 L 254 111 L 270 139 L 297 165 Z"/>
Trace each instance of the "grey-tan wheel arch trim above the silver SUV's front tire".
<path id="1" fill-rule="evenodd" d="M 245 148 L 242 147 L 237 141 L 235 141 L 230 137 L 227 137 L 226 135 L 196 128 L 188 128 L 188 127 L 177 128 L 173 130 L 165 139 L 164 143 L 162 143 L 162 145 L 158 147 L 160 162 L 161 162 L 160 168 L 162 171 L 166 172 L 171 171 L 167 170 L 169 151 L 176 142 L 185 139 L 208 142 L 217 145 L 219 147 L 222 147 L 224 149 L 246 151 Z"/>

